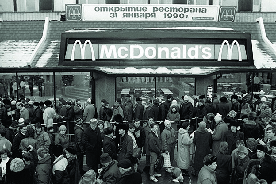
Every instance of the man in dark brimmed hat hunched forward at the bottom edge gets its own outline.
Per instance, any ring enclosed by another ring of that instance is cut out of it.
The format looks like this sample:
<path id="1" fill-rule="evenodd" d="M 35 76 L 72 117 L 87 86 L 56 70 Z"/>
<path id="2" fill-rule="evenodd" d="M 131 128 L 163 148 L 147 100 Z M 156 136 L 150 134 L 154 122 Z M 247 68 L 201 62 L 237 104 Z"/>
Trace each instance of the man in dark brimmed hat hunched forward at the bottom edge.
<path id="1" fill-rule="evenodd" d="M 112 160 L 108 153 L 103 153 L 101 155 L 101 164 L 104 167 L 100 170 L 100 177 L 97 179 L 97 183 L 116 184 L 121 178 L 117 160 Z"/>

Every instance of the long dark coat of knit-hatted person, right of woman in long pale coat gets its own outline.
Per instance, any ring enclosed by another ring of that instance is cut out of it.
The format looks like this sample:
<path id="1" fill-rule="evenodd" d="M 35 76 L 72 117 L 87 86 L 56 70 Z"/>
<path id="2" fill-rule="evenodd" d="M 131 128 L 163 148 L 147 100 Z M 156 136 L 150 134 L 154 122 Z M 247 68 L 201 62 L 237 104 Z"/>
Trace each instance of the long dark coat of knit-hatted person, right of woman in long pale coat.
<path id="1" fill-rule="evenodd" d="M 201 129 L 197 129 L 197 131 L 194 133 L 194 144 L 197 148 L 195 151 L 195 157 L 194 157 L 194 169 L 196 171 L 200 171 L 203 167 L 203 158 L 211 154 L 212 149 L 212 134 L 205 129 L 205 131 L 202 131 Z"/>

